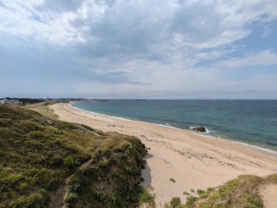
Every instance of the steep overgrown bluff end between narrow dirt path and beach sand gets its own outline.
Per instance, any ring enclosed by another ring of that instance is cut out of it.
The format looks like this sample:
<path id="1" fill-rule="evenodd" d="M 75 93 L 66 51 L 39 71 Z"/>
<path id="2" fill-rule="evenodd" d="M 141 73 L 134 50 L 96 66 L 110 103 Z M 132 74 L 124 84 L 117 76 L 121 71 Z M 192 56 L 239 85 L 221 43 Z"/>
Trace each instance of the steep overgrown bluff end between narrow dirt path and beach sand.
<path id="1" fill-rule="evenodd" d="M 80 203 L 92 204 L 91 207 L 135 207 L 134 203 L 141 203 L 142 199 L 153 201 L 148 191 L 130 183 L 130 178 L 140 181 L 144 147 L 132 136 L 116 134 L 112 138 L 110 141 L 106 138 L 107 145 L 97 148 L 91 165 L 79 170 L 69 181 L 66 198 L 69 207 Z M 113 140 L 117 142 L 110 143 Z"/>

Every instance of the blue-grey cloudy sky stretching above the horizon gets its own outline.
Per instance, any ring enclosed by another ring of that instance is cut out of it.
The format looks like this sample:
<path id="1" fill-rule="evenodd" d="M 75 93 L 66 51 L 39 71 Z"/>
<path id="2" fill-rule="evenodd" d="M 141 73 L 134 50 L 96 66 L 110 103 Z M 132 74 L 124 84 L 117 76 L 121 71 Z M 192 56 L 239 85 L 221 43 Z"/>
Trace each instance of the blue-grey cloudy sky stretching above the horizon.
<path id="1" fill-rule="evenodd" d="M 0 97 L 277 99 L 277 0 L 0 0 Z"/>

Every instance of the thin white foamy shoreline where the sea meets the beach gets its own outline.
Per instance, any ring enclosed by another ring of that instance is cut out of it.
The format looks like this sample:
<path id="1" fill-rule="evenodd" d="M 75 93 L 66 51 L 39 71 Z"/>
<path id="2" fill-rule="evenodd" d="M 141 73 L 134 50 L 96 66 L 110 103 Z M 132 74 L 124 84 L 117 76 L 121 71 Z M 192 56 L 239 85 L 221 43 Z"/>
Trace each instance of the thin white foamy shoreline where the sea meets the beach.
<path id="1" fill-rule="evenodd" d="M 127 118 L 123 118 L 123 117 L 116 117 L 116 116 L 112 116 L 112 115 L 106 115 L 106 114 L 96 113 L 96 112 L 92 112 L 92 111 L 89 111 L 89 110 L 83 110 L 81 108 L 72 106 L 71 104 L 74 104 L 74 103 L 77 103 L 77 102 L 72 102 L 72 103 L 69 104 L 69 106 L 71 106 L 72 108 L 75 108 L 77 110 L 88 112 L 88 113 L 91 113 L 91 114 L 95 114 L 95 115 L 99 115 L 99 116 L 104 116 L 104 117 L 109 117 L 109 118 L 112 118 L 112 119 L 120 119 L 120 120 L 126 120 L 126 121 L 131 121 L 131 122 L 141 122 L 141 123 L 147 123 L 147 124 L 152 124 L 152 125 L 157 125 L 157 126 L 162 126 L 162 127 L 167 127 L 167 128 L 174 128 L 174 129 L 185 130 L 185 131 L 192 132 L 192 133 L 194 133 L 194 134 L 196 134 L 198 136 L 207 137 L 207 138 L 213 138 L 213 139 L 219 139 L 219 140 L 223 140 L 223 141 L 227 141 L 227 142 L 232 142 L 232 143 L 244 145 L 244 146 L 246 146 L 248 148 L 253 148 L 253 149 L 258 149 L 258 150 L 262 150 L 262 151 L 267 151 L 269 153 L 277 155 L 277 151 L 274 151 L 274 150 L 271 150 L 271 149 L 267 149 L 267 148 L 263 148 L 263 147 L 259 147 L 259 146 L 255 146 L 255 145 L 248 144 L 248 143 L 245 143 L 245 142 L 236 141 L 236 140 L 230 140 L 230 139 L 227 139 L 227 138 L 216 137 L 216 136 L 209 135 L 209 134 L 202 134 L 202 133 L 199 133 L 197 131 L 192 131 L 192 130 L 188 130 L 188 129 L 184 129 L 184 128 L 178 128 L 178 127 L 174 127 L 174 126 L 167 126 L 167 125 L 158 124 L 158 123 L 151 123 L 151 122 L 140 121 L 140 120 L 132 120 L 132 119 L 127 119 Z"/>

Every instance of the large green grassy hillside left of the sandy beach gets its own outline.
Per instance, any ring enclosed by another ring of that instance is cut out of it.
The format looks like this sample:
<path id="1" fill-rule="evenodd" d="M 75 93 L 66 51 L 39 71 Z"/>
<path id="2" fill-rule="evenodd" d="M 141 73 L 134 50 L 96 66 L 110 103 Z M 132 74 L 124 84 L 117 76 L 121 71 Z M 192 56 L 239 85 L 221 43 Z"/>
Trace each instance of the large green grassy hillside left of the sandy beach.
<path id="1" fill-rule="evenodd" d="M 155 207 L 138 185 L 145 153 L 134 136 L 0 104 L 0 207 L 53 206 L 66 178 L 69 207 Z"/>

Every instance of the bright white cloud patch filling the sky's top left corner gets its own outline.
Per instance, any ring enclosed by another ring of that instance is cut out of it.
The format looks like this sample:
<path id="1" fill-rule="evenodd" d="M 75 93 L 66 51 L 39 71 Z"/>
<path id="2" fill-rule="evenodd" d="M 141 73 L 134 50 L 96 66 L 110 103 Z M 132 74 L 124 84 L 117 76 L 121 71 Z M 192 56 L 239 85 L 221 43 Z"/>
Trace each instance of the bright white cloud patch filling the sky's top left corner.
<path id="1" fill-rule="evenodd" d="M 0 6 L 0 28 L 2 32 L 20 38 L 44 42 L 84 41 L 82 34 L 69 24 L 76 18 L 73 12 L 40 12 L 34 1 L 4 0 Z"/>

